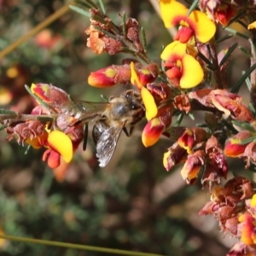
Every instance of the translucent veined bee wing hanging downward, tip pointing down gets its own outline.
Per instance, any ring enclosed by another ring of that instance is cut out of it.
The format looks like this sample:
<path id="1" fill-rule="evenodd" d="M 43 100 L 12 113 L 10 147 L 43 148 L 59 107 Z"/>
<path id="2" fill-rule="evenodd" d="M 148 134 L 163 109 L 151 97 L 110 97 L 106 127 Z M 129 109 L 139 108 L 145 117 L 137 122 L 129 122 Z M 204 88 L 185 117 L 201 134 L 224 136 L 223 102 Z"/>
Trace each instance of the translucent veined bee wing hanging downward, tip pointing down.
<path id="1" fill-rule="evenodd" d="M 109 160 L 111 160 L 124 126 L 123 123 L 113 125 L 102 132 L 96 144 L 96 157 L 99 159 L 99 166 L 107 166 Z"/>

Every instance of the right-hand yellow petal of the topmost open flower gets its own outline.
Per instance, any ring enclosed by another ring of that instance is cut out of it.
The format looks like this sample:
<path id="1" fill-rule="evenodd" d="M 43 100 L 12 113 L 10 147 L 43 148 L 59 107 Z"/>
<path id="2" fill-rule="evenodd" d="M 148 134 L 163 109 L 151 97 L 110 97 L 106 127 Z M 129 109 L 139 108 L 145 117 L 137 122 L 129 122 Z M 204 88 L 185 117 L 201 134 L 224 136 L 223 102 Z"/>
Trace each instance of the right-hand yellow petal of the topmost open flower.
<path id="1" fill-rule="evenodd" d="M 195 31 L 195 37 L 201 43 L 207 43 L 214 36 L 216 26 L 206 14 L 195 10 L 189 15 L 189 20 L 195 24 L 192 28 Z"/>

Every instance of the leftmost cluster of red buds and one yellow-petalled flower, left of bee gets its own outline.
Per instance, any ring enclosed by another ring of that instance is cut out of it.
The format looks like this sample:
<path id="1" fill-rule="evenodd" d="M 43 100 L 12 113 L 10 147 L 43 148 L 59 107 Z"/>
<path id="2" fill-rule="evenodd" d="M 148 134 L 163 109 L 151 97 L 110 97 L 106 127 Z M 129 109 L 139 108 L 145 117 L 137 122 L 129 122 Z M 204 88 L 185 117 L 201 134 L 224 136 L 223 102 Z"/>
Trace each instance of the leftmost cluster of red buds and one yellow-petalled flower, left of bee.
<path id="1" fill-rule="evenodd" d="M 84 127 L 69 126 L 73 120 L 68 113 L 72 102 L 64 90 L 51 84 L 32 84 L 31 92 L 42 105 L 33 108 L 27 120 L 10 122 L 6 128 L 8 139 L 15 138 L 32 148 L 46 148 L 43 160 L 55 169 L 60 166 L 61 157 L 67 163 L 72 160 L 73 152 L 84 139 Z"/>

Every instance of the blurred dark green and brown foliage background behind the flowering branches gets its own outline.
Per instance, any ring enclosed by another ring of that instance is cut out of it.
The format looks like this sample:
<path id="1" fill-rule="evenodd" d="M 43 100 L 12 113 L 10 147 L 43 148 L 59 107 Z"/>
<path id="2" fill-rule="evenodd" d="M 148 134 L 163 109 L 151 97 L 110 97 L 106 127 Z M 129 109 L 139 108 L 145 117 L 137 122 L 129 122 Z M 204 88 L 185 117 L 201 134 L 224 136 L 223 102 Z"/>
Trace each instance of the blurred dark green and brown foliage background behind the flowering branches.
<path id="1" fill-rule="evenodd" d="M 104 1 L 117 24 L 119 14 L 144 26 L 149 57 L 160 63 L 169 32 L 147 0 Z M 52 15 L 65 1 L 0 0 L 0 51 Z M 54 84 L 73 99 L 102 102 L 128 87 L 92 88 L 92 71 L 120 64 L 125 55 L 95 55 L 86 47 L 89 20 L 72 10 L 0 60 L 0 108 L 27 113 L 32 108 L 24 84 Z M 240 65 L 247 64 L 246 61 Z M 234 79 L 234 74 L 232 78 Z M 238 73 L 239 75 L 239 73 Z M 236 77 L 235 77 L 236 79 Z M 42 161 L 43 150 L 7 142 L 0 133 L 0 233 L 96 247 L 113 247 L 165 255 L 224 255 L 235 243 L 219 232 L 212 217 L 198 212 L 209 201 L 200 181 L 188 186 L 178 166 L 166 172 L 162 157 L 172 143 L 164 137 L 152 148 L 141 143 L 137 125 L 122 136 L 113 159 L 99 168 L 91 137 L 64 170 L 53 172 Z M 241 165 L 242 166 L 242 165 Z M 0 255 L 107 255 L 0 240 Z"/>

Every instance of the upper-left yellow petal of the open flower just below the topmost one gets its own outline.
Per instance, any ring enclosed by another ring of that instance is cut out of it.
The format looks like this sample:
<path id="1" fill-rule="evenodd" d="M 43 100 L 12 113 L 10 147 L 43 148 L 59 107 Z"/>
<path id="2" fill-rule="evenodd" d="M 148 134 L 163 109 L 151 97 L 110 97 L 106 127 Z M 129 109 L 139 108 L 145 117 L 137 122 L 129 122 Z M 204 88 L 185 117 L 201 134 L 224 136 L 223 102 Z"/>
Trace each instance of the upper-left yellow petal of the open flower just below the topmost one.
<path id="1" fill-rule="evenodd" d="M 174 41 L 166 46 L 166 48 L 162 51 L 160 58 L 163 61 L 168 61 L 172 55 L 183 57 L 183 55 L 186 54 L 186 49 L 186 44 L 182 44 L 179 41 Z"/>

